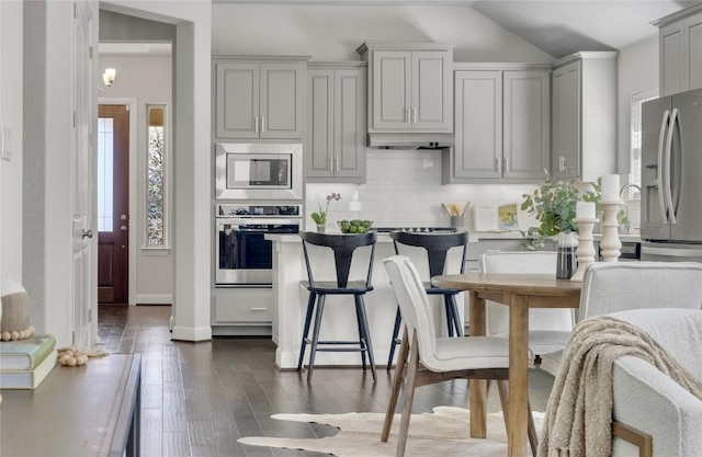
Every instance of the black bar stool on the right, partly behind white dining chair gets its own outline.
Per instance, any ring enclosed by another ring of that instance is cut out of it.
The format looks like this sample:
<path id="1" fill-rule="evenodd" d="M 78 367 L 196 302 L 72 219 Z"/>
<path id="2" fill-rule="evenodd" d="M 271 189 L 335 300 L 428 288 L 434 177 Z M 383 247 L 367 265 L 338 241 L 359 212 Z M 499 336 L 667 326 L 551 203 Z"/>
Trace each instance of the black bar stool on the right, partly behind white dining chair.
<path id="1" fill-rule="evenodd" d="M 392 231 L 390 238 L 395 244 L 395 253 L 400 254 L 400 244 L 423 248 L 427 250 L 427 256 L 429 259 L 429 275 L 430 277 L 438 276 L 444 273 L 444 266 L 446 263 L 446 254 L 450 249 L 463 247 L 463 253 L 461 255 L 460 272 L 465 271 L 465 256 L 468 249 L 468 232 L 411 232 L 411 231 Z M 446 311 L 446 325 L 449 330 L 449 336 L 463 336 L 463 323 L 461 322 L 461 315 L 458 313 L 458 307 L 456 305 L 456 295 L 461 290 L 449 289 L 442 287 L 434 287 L 430 282 L 423 283 L 427 295 L 443 295 L 444 308 Z M 395 327 L 393 328 L 393 340 L 390 341 L 390 353 L 387 358 L 387 370 L 389 372 L 393 365 L 393 357 L 395 356 L 395 347 L 399 344 L 398 338 L 399 328 L 401 323 L 401 317 L 399 307 L 395 313 Z"/>

